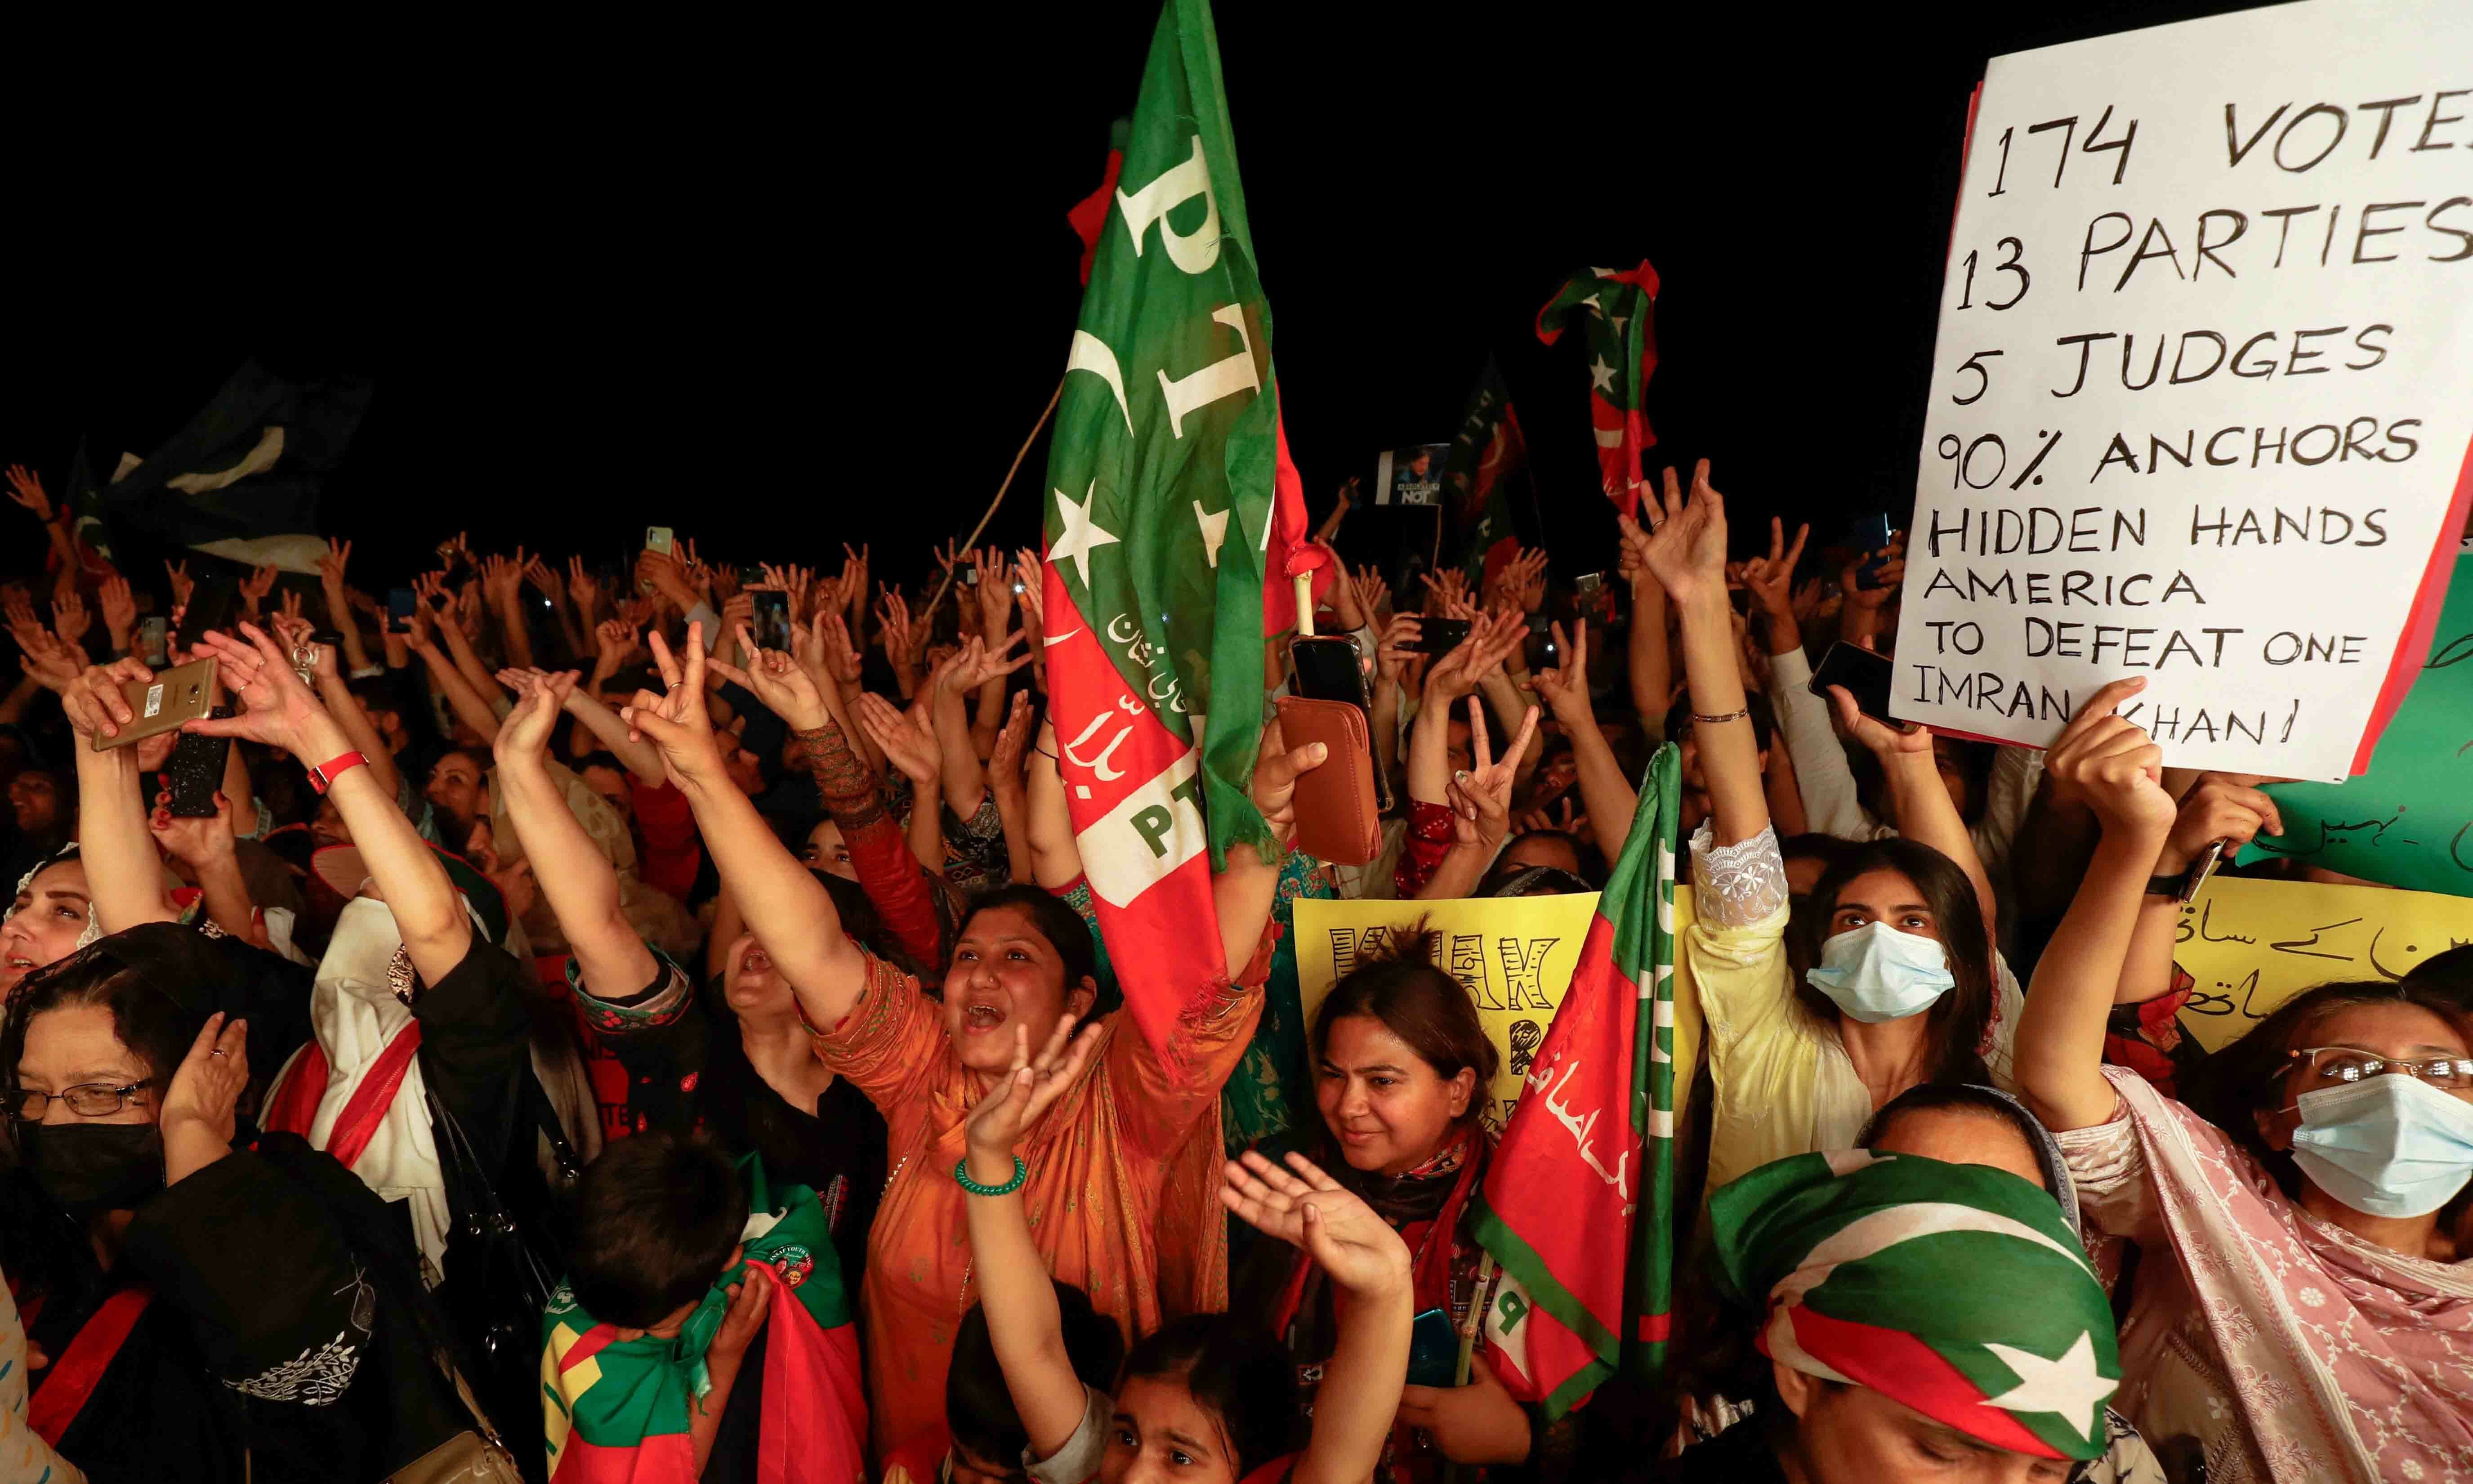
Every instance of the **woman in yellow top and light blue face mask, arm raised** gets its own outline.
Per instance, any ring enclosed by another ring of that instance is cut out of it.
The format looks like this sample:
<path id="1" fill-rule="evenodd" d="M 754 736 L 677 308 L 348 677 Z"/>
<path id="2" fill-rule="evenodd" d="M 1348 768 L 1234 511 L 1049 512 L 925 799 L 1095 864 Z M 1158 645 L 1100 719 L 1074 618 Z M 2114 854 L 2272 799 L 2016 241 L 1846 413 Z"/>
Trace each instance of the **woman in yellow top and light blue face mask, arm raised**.
<path id="1" fill-rule="evenodd" d="M 1917 1083 L 2008 1086 L 2020 999 L 2015 982 L 1996 989 L 2008 977 L 1996 970 L 1993 893 L 1931 732 L 1865 717 L 1842 688 L 1830 688 L 1837 722 L 1879 757 L 1904 838 L 1867 841 L 1823 876 L 1788 942 L 1786 861 L 1736 668 L 1726 502 L 1709 487 L 1709 460 L 1689 502 L 1667 470 L 1664 507 L 1645 512 L 1649 529 L 1625 519 L 1622 539 L 1682 618 L 1684 789 L 1709 811 L 1692 836 L 1687 952 L 1709 1019 L 1716 1190 L 1771 1160 L 1850 1148 L 1875 1108 Z"/>

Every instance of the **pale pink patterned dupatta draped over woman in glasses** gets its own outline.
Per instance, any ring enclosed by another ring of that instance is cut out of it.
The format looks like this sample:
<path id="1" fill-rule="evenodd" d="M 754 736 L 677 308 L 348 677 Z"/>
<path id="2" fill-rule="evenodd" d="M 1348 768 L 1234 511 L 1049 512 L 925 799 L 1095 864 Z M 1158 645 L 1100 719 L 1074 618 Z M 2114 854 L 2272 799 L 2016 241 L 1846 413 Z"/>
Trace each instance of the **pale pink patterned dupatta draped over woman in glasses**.
<path id="1" fill-rule="evenodd" d="M 2105 1076 L 2268 1472 L 2473 1482 L 2473 1261 L 2320 1222 L 2223 1130 L 2134 1071 Z"/>

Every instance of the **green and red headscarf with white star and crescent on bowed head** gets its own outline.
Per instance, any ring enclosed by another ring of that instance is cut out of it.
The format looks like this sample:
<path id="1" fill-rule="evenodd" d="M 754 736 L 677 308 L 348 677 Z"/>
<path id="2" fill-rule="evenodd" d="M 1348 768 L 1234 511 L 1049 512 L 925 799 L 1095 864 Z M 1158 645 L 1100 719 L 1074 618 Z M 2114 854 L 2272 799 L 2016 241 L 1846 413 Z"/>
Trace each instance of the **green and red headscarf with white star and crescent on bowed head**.
<path id="1" fill-rule="evenodd" d="M 2040 1185 L 1922 1155 L 1795 1155 L 1711 1195 L 1709 1237 L 1729 1298 L 1766 1316 L 1771 1360 L 2006 1452 L 2105 1452 L 2112 1303 Z"/>

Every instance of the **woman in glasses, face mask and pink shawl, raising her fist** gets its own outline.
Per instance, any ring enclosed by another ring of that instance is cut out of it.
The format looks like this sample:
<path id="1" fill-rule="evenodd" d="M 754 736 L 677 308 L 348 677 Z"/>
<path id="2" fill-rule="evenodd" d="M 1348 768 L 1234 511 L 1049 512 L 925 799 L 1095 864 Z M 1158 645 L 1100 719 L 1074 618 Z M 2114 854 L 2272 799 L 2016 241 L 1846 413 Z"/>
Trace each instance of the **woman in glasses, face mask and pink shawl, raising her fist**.
<path id="1" fill-rule="evenodd" d="M 2181 1078 L 2176 1103 L 2102 1064 L 2132 937 L 2174 829 L 2161 754 L 2107 685 L 2053 747 L 2105 834 L 2018 1026 L 2025 1103 L 2060 1135 L 2087 1227 L 2144 1249 L 2119 1407 L 2211 1479 L 2448 1479 L 2473 1459 L 2473 1014 L 2424 984 L 2322 984 Z M 2206 834 L 2275 829 L 2273 801 Z"/>

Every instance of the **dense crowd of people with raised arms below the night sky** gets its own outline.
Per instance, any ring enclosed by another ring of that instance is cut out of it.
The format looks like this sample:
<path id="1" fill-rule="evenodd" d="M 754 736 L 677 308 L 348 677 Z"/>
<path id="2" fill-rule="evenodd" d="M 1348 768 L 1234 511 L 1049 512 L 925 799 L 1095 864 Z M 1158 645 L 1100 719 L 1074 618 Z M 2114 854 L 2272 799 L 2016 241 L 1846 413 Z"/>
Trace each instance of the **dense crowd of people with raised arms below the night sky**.
<path id="1" fill-rule="evenodd" d="M 1815 695 L 1897 539 L 1731 561 L 1701 463 L 1598 549 L 1338 566 L 1382 853 L 1229 848 L 1162 1046 L 1034 549 L 116 571 L 10 487 L 0 1484 L 2473 1479 L 2473 970 L 2179 1044 L 2169 885 L 2275 804 L 2161 769 L 2137 680 L 2050 752 Z M 220 705 L 111 744 L 156 636 Z M 1476 1343 L 1469 992 L 1405 932 L 1308 1019 L 1288 923 L 1595 890 L 1669 742 L 1672 1365 L 1548 1415 Z M 1266 727 L 1276 838 L 1326 762 Z"/>

